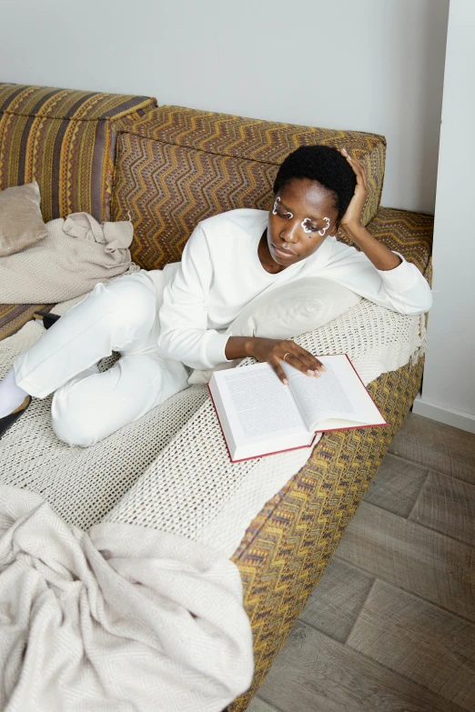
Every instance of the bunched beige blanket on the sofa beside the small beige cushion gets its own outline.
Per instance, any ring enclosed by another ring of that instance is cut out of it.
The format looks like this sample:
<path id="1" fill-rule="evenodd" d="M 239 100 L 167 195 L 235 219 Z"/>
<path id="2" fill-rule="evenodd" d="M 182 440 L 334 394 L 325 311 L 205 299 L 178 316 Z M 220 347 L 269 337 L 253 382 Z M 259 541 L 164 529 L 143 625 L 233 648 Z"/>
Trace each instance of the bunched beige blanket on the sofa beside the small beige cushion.
<path id="1" fill-rule="evenodd" d="M 131 263 L 131 222 L 103 223 L 73 213 L 46 224 L 48 235 L 14 255 L 0 257 L 0 303 L 63 302 L 122 275 Z"/>

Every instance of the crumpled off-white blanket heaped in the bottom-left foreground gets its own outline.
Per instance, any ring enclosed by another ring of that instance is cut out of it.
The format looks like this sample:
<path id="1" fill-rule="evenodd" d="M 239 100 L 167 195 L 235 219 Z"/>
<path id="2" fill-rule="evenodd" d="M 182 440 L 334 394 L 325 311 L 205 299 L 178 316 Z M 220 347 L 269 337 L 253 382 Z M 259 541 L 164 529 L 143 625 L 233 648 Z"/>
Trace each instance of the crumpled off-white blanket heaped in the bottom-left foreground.
<path id="1" fill-rule="evenodd" d="M 139 526 L 68 526 L 0 486 L 0 708 L 220 712 L 248 689 L 238 567 Z"/>

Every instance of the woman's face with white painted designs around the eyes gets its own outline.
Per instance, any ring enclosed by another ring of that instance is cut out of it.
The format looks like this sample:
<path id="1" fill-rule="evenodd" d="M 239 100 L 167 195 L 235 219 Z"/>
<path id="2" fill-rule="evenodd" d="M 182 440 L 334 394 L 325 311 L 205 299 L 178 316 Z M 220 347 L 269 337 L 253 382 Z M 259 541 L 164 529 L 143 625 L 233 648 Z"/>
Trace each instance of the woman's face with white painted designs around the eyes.
<path id="1" fill-rule="evenodd" d="M 334 235 L 338 211 L 333 194 L 317 181 L 294 178 L 274 196 L 268 219 L 268 249 L 278 265 L 310 256 Z"/>

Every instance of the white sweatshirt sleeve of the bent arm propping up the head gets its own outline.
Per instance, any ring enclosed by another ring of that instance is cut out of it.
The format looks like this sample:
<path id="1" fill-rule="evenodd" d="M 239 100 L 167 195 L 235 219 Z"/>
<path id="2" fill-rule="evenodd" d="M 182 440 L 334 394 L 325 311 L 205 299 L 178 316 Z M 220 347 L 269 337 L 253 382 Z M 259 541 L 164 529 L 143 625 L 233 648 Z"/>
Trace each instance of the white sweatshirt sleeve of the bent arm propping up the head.
<path id="1" fill-rule="evenodd" d="M 369 301 L 399 314 L 423 314 L 432 306 L 432 293 L 417 266 L 402 262 L 393 269 L 377 269 L 355 247 L 335 241 L 321 276 L 334 279 Z"/>

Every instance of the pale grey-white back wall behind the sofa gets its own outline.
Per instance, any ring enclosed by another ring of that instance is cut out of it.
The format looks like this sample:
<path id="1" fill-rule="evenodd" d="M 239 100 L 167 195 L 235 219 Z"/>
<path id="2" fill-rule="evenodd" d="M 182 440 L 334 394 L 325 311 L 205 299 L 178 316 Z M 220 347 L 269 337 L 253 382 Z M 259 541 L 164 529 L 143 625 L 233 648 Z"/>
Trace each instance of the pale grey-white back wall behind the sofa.
<path id="1" fill-rule="evenodd" d="M 383 134 L 383 205 L 433 212 L 448 6 L 7 0 L 0 75 Z"/>

